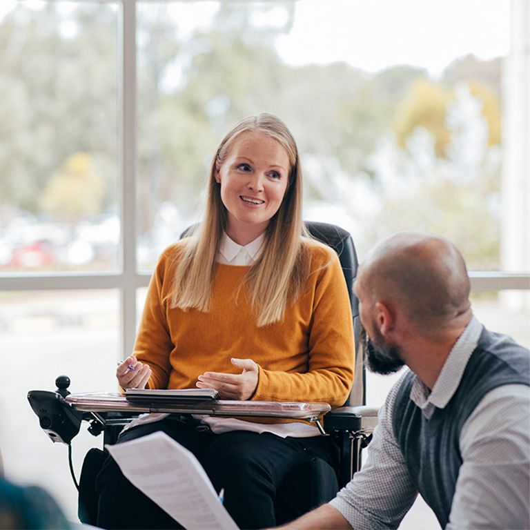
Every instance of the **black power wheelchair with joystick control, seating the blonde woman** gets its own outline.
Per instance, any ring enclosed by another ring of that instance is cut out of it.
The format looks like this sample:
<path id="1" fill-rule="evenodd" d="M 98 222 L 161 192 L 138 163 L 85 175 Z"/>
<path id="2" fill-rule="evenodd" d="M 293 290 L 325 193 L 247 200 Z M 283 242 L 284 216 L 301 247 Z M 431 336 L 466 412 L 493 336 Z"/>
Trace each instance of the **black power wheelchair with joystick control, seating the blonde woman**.
<path id="1" fill-rule="evenodd" d="M 302 513 L 295 513 L 292 505 L 304 506 L 304 513 L 331 500 L 340 487 L 343 487 L 355 471 L 360 469 L 360 453 L 371 439 L 373 428 L 377 424 L 377 409 L 365 406 L 364 358 L 360 344 L 360 320 L 357 297 L 353 284 L 357 273 L 357 255 L 353 239 L 346 230 L 326 223 L 306 222 L 306 227 L 315 239 L 331 246 L 337 253 L 349 290 L 355 333 L 355 379 L 349 400 L 340 409 L 324 415 L 323 432 L 331 435 L 340 449 L 340 473 L 324 460 L 313 458 L 300 464 L 289 473 L 284 484 L 277 492 L 275 514 L 277 524 L 284 524 Z M 184 233 L 186 234 L 186 233 Z M 57 391 L 30 391 L 28 400 L 39 417 L 40 426 L 54 442 L 63 442 L 70 446 L 71 440 L 79 432 L 81 422 L 90 425 L 88 431 L 93 435 L 104 433 L 104 444 L 113 444 L 124 425 L 137 413 L 128 411 L 79 411 L 64 399 L 69 395 L 70 380 L 60 376 L 56 380 Z M 106 453 L 91 449 L 86 456 L 79 481 L 79 518 L 82 522 L 95 524 L 97 515 L 97 493 L 95 476 L 101 467 Z M 75 475 L 71 466 L 72 477 Z M 301 503 L 291 502 L 294 498 Z"/>

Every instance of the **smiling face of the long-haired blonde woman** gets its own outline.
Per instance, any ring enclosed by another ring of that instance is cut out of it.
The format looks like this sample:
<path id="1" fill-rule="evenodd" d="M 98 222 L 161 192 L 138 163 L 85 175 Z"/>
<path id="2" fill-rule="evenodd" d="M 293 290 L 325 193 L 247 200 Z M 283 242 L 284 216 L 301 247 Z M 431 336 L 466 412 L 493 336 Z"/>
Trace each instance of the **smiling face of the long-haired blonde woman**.
<path id="1" fill-rule="evenodd" d="M 235 139 L 215 179 L 228 210 L 226 233 L 236 243 L 246 245 L 265 230 L 282 204 L 290 170 L 279 141 L 253 131 Z"/>

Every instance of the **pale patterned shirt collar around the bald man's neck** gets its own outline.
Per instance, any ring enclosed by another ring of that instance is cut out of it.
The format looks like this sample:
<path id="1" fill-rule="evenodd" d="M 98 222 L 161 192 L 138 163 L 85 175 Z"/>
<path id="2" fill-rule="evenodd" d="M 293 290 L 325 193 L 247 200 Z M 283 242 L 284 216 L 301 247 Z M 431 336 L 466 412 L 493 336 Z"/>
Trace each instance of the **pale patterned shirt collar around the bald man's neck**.
<path id="1" fill-rule="evenodd" d="M 411 400 L 422 409 L 427 419 L 433 414 L 434 407 L 443 409 L 458 389 L 469 357 L 478 344 L 482 327 L 473 315 L 445 360 L 432 391 L 429 391 L 429 387 L 419 377 L 415 378 L 411 389 Z"/>

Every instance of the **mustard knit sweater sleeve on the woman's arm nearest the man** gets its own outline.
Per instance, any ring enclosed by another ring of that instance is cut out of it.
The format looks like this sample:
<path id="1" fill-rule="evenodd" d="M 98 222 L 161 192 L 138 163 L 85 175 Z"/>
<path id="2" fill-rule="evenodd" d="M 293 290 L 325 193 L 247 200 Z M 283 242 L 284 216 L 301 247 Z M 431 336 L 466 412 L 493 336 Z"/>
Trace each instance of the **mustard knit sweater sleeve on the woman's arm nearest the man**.
<path id="1" fill-rule="evenodd" d="M 322 248 L 332 262 L 318 268 L 308 282 L 312 315 L 308 364 L 304 371 L 275 371 L 259 366 L 253 400 L 326 402 L 342 406 L 353 383 L 355 345 L 351 306 L 339 259 Z M 299 300 L 297 304 L 302 304 Z M 297 304 L 293 311 L 297 311 Z"/>

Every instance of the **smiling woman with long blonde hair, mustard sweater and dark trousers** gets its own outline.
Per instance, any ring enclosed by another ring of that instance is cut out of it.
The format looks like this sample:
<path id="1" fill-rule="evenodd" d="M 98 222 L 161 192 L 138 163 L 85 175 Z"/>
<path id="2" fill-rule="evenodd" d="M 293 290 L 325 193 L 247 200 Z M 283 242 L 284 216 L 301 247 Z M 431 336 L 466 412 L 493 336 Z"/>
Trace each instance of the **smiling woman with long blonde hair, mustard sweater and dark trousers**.
<path id="1" fill-rule="evenodd" d="M 302 224 L 295 141 L 277 117 L 248 117 L 213 159 L 204 222 L 159 259 L 119 384 L 340 406 L 353 382 L 353 350 L 337 256 Z M 119 441 L 168 433 L 224 489 L 225 507 L 243 529 L 275 526 L 275 492 L 295 465 L 313 456 L 336 465 L 333 441 L 306 422 L 151 415 L 138 423 Z M 110 458 L 97 488 L 100 527 L 173 522 Z"/>

